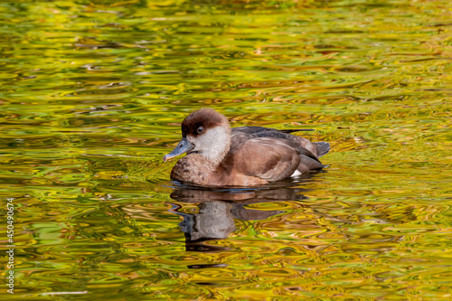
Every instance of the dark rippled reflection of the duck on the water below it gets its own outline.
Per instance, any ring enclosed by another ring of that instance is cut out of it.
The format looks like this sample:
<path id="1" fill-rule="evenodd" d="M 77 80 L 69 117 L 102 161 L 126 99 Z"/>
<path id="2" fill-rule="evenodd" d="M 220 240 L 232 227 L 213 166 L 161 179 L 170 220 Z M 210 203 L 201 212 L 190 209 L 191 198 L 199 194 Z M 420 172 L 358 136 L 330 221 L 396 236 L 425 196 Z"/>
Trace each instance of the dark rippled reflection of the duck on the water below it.
<path id="1" fill-rule="evenodd" d="M 186 250 L 212 252 L 227 247 L 204 244 L 207 240 L 225 240 L 236 230 L 234 219 L 243 221 L 265 220 L 283 211 L 247 209 L 244 205 L 259 202 L 301 201 L 306 199 L 299 188 L 300 179 L 288 179 L 265 187 L 243 189 L 206 189 L 174 183 L 171 198 L 178 203 L 171 212 L 184 217 L 179 226 L 185 233 Z M 197 203 L 199 212 L 182 212 L 185 203 Z"/>

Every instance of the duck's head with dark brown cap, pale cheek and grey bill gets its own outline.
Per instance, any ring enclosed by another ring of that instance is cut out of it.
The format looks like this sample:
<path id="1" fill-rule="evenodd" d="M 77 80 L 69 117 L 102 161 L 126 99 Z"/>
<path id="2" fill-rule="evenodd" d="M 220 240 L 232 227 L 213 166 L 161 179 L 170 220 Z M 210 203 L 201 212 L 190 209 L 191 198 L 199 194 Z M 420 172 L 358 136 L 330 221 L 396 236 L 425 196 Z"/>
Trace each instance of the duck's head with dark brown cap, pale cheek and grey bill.
<path id="1" fill-rule="evenodd" d="M 182 139 L 164 161 L 176 155 L 199 154 L 215 165 L 220 164 L 231 147 L 228 118 L 212 108 L 193 111 L 182 122 Z"/>

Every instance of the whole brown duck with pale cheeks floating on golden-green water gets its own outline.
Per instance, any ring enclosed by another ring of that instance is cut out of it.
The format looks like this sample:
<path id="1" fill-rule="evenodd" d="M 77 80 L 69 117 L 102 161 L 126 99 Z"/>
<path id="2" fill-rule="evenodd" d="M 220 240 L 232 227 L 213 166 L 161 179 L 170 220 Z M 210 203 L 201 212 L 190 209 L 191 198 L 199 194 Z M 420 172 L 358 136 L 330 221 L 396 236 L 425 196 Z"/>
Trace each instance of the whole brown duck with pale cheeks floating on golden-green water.
<path id="1" fill-rule="evenodd" d="M 164 162 L 183 155 L 171 179 L 199 186 L 257 186 L 325 167 L 319 157 L 327 142 L 311 142 L 291 133 L 303 129 L 232 127 L 212 108 L 190 113 L 181 125 L 182 139 Z"/>

